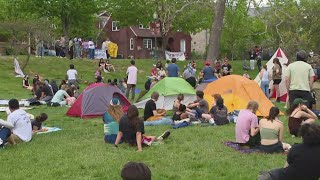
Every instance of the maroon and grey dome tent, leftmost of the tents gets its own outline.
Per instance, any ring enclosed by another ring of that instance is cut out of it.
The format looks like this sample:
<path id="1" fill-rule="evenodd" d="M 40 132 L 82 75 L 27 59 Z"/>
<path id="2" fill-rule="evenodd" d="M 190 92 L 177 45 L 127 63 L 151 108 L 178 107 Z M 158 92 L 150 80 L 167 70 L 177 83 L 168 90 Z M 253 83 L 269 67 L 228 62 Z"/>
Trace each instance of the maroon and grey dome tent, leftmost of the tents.
<path id="1" fill-rule="evenodd" d="M 112 98 L 120 100 L 124 111 L 128 109 L 130 102 L 119 88 L 104 83 L 94 83 L 80 94 L 67 115 L 81 118 L 101 116 L 106 112 Z"/>

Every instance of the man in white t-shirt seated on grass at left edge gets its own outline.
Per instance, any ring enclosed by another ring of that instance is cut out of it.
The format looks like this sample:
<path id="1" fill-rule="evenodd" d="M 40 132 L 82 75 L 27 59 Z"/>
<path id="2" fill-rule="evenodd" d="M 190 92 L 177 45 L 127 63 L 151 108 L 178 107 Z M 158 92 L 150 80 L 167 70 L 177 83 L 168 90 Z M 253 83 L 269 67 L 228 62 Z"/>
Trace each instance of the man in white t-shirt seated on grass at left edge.
<path id="1" fill-rule="evenodd" d="M 10 114 L 7 121 L 0 119 L 0 148 L 8 141 L 12 145 L 29 142 L 32 139 L 31 121 L 27 113 L 19 109 L 19 101 L 9 101 Z"/>

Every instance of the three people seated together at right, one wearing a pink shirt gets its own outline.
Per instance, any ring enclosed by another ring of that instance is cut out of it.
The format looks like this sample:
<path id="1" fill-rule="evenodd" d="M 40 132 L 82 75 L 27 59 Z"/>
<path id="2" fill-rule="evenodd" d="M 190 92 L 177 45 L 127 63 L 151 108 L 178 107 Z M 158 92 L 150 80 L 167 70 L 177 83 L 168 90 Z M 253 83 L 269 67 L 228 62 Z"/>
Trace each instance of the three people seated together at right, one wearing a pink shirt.
<path id="1" fill-rule="evenodd" d="M 290 134 L 299 135 L 299 130 L 304 124 L 312 124 L 317 119 L 306 105 L 306 101 L 297 98 L 288 111 L 288 127 Z M 265 153 L 281 153 L 289 151 L 291 146 L 282 142 L 284 125 L 279 119 L 280 110 L 272 107 L 269 116 L 258 121 L 256 112 L 259 104 L 250 101 L 247 108 L 241 110 L 236 123 L 236 142 L 242 148 L 259 147 Z"/>

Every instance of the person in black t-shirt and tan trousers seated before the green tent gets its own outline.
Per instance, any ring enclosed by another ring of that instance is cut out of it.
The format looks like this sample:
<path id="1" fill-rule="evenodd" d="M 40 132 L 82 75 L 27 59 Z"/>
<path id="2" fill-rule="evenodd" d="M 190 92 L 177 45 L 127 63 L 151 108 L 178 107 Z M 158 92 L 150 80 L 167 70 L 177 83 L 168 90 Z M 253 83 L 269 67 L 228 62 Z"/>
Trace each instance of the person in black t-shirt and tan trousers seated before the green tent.
<path id="1" fill-rule="evenodd" d="M 162 124 L 172 124 L 170 118 L 164 117 L 166 111 L 161 109 L 157 110 L 156 102 L 159 99 L 159 93 L 154 91 L 151 94 L 151 99 L 147 101 L 144 108 L 144 125 L 162 125 Z"/>

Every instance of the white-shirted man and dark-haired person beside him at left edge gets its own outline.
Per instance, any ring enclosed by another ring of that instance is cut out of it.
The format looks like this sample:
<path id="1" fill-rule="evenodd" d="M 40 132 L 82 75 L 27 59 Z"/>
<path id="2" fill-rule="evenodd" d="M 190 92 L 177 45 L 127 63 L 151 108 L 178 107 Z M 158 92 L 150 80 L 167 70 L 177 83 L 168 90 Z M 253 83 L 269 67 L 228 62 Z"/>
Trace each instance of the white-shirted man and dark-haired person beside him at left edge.
<path id="1" fill-rule="evenodd" d="M 47 129 L 42 128 L 42 123 L 48 119 L 46 113 L 41 113 L 36 118 L 31 119 L 32 116 L 20 109 L 17 99 L 9 101 L 9 110 L 10 114 L 7 121 L 0 119 L 0 148 L 8 143 L 16 145 L 29 142 L 33 134 L 47 131 Z"/>

